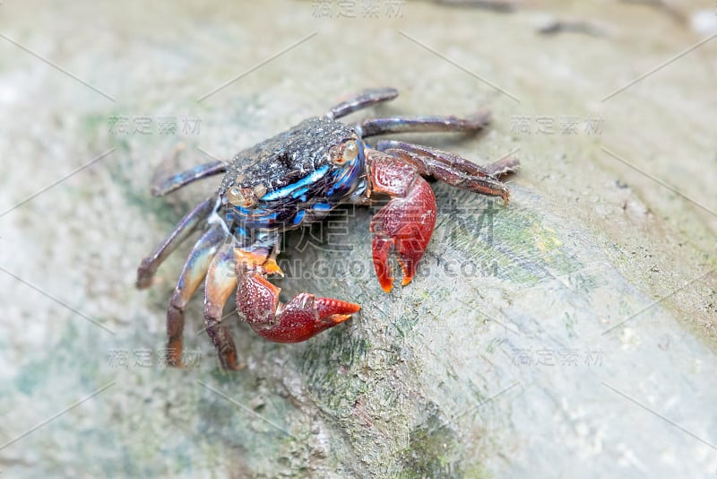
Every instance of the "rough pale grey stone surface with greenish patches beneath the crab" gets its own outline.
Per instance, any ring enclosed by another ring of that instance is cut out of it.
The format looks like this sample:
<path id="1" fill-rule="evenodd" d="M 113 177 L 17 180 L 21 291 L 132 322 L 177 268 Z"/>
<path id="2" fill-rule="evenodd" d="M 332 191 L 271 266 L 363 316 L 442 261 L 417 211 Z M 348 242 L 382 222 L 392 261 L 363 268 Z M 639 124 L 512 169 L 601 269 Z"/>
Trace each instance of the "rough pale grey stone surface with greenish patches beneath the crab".
<path id="1" fill-rule="evenodd" d="M 713 5 L 410 2 L 389 18 L 375 2 L 377 19 L 351 20 L 315 4 L 0 4 L 0 210 L 115 148 L 0 213 L 0 473 L 713 476 L 717 39 L 603 101 L 712 34 L 708 14 L 702 33 L 681 19 Z M 603 36 L 540 35 L 546 19 Z M 350 211 L 350 254 L 289 249 L 298 277 L 281 285 L 359 302 L 357 318 L 281 345 L 230 316 L 246 367 L 225 374 L 196 300 L 186 346 L 200 361 L 158 367 L 191 245 L 147 292 L 134 271 L 218 180 L 153 198 L 153 171 L 229 158 L 376 85 L 401 91 L 379 114 L 490 107 L 487 135 L 420 140 L 486 160 L 519 147 L 511 204 L 436 185 L 435 239 L 391 295 L 370 271 L 370 212 Z M 166 115 L 175 135 L 158 131 Z M 538 133 L 539 118 L 557 131 Z M 592 118 L 601 132 L 585 131 Z M 179 140 L 181 164 L 162 163 Z"/>

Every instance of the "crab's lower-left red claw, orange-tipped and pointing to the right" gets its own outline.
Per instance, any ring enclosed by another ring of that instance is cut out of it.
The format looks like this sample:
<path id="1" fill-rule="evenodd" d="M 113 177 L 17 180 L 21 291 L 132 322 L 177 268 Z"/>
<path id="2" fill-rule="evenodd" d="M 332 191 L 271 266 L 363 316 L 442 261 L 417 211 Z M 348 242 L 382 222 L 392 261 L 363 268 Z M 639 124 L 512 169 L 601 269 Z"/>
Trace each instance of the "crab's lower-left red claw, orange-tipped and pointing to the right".
<path id="1" fill-rule="evenodd" d="M 298 343 L 334 327 L 358 312 L 358 304 L 315 298 L 300 292 L 288 304 L 279 301 L 279 288 L 268 274 L 283 274 L 263 248 L 234 250 L 237 263 L 237 308 L 255 332 L 276 343 Z"/>

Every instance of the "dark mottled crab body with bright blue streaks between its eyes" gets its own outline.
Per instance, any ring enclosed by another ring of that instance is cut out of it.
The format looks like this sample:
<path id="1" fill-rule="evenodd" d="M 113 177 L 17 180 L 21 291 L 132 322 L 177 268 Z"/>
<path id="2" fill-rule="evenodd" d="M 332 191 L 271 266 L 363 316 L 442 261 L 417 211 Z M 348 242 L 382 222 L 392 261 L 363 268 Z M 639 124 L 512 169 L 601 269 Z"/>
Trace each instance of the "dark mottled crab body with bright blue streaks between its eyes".
<path id="1" fill-rule="evenodd" d="M 225 219 L 239 235 L 312 222 L 365 187 L 364 144 L 328 118 L 297 126 L 238 153 L 220 186 Z"/>

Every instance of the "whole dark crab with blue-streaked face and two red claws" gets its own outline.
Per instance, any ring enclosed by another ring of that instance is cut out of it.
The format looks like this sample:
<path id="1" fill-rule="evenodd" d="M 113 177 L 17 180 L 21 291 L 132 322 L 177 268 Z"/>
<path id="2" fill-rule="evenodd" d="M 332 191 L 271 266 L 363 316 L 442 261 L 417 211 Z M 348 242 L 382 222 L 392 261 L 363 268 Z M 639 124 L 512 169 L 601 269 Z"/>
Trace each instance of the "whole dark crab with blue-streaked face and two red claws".
<path id="1" fill-rule="evenodd" d="M 235 291 L 239 315 L 256 333 L 278 343 L 305 341 L 357 313 L 358 304 L 305 292 L 284 304 L 280 288 L 268 281 L 272 274 L 283 274 L 276 262 L 281 233 L 321 221 L 337 205 L 372 205 L 388 196 L 372 218 L 370 231 L 378 283 L 391 292 L 392 253 L 405 286 L 416 273 L 436 223 L 436 198 L 423 177 L 500 196 L 507 204 L 509 191 L 499 177 L 517 169 L 519 162 L 513 157 L 479 167 L 428 146 L 384 140 L 371 147 L 365 141 L 408 132 L 475 133 L 488 125 L 488 111 L 470 118 L 367 118 L 355 125 L 338 121 L 397 95 L 393 88 L 362 91 L 323 117 L 308 118 L 231 161 L 212 161 L 154 183 L 152 194 L 163 196 L 224 173 L 218 191 L 186 214 L 137 271 L 137 287 L 149 286 L 177 246 L 194 231 L 203 231 L 169 300 L 169 365 L 182 366 L 185 309 L 202 282 L 204 326 L 225 370 L 239 368 L 229 327 L 222 323 L 222 310 Z"/>

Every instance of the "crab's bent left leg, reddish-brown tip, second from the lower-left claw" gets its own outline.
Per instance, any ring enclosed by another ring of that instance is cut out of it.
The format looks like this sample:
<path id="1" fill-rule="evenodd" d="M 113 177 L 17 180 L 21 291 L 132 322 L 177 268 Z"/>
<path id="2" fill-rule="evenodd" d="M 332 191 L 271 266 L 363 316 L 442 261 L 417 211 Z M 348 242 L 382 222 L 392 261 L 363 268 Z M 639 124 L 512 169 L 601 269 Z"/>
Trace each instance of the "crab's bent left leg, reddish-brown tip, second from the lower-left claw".
<path id="1" fill-rule="evenodd" d="M 202 283 L 212 257 L 216 255 L 225 236 L 226 233 L 219 224 L 213 225 L 194 244 L 182 274 L 179 275 L 167 309 L 167 363 L 170 366 L 182 365 L 182 332 L 185 328 L 186 303 Z"/>

